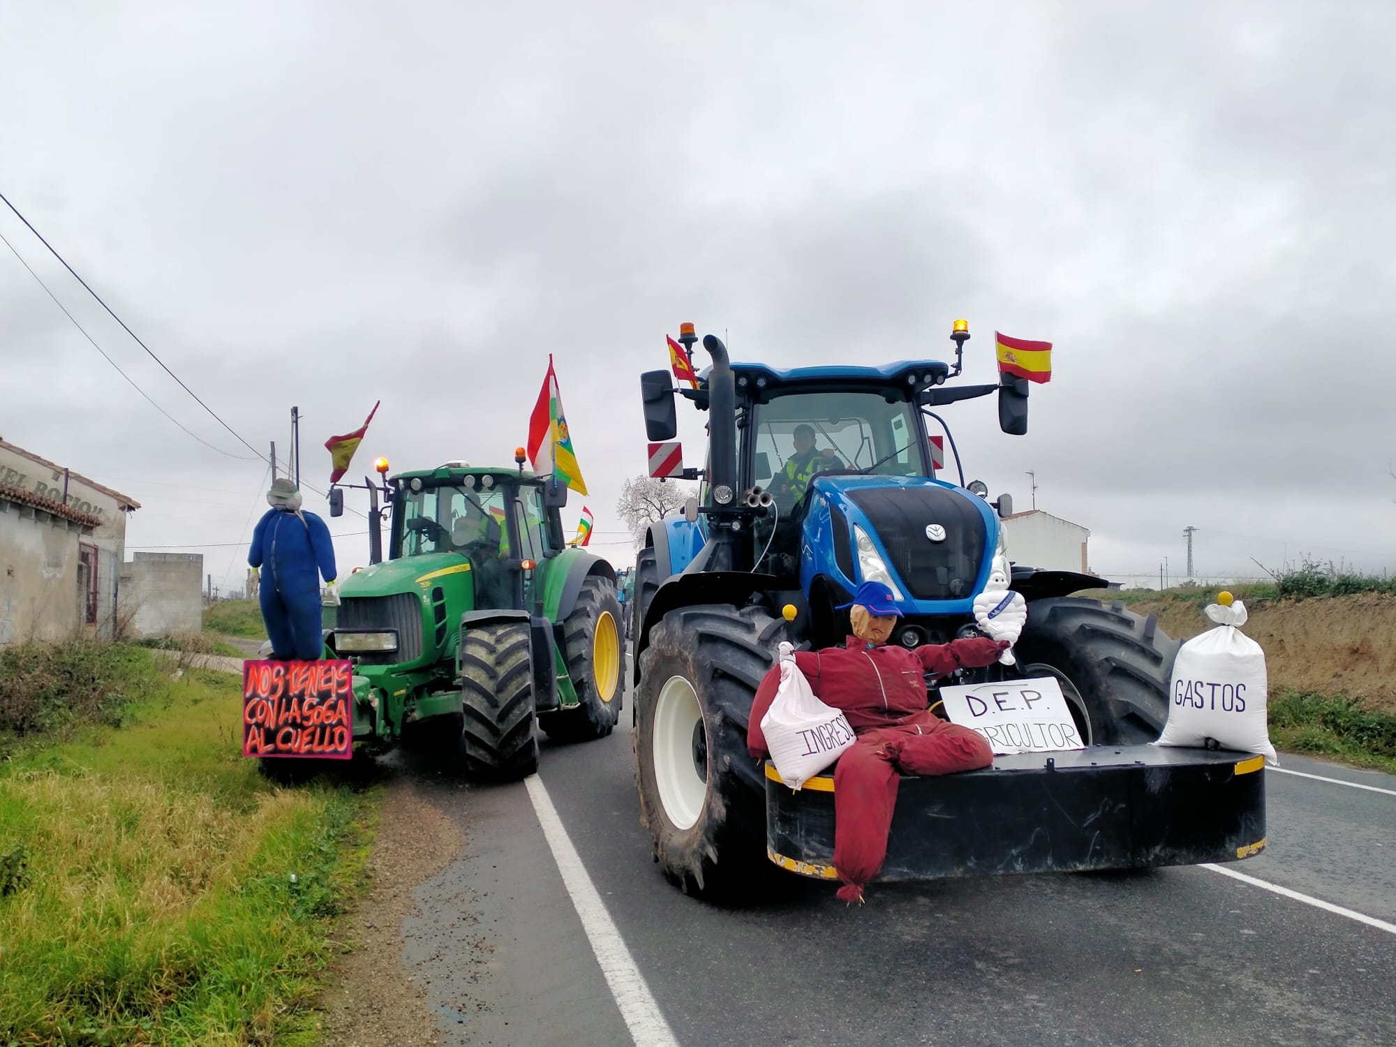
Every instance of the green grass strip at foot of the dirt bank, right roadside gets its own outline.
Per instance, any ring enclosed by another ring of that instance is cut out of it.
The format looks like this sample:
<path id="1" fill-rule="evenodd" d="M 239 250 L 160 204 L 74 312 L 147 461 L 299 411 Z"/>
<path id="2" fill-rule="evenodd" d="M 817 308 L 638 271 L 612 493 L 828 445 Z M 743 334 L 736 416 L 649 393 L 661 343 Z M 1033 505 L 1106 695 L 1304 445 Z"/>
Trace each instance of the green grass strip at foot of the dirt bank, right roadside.
<path id="1" fill-rule="evenodd" d="M 1396 773 L 1396 716 L 1367 712 L 1353 698 L 1279 691 L 1270 695 L 1269 723 L 1276 748 Z"/>

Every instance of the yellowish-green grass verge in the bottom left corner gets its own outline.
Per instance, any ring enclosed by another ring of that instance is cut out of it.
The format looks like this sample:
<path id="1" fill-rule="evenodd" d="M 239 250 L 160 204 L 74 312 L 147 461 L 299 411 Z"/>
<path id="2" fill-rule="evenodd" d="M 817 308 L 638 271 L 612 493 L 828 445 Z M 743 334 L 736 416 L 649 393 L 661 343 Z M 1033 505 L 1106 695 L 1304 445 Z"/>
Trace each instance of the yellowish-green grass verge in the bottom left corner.
<path id="1" fill-rule="evenodd" d="M 235 676 L 133 656 L 127 726 L 0 764 L 0 1044 L 310 1036 L 377 797 L 271 786 L 240 755 Z"/>

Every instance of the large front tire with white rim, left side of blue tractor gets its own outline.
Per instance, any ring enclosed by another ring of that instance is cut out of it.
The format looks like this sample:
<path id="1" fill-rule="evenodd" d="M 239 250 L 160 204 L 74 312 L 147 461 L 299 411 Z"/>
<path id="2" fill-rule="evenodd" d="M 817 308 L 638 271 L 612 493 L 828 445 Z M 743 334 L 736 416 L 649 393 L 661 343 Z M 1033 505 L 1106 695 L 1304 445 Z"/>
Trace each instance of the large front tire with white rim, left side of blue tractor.
<path id="1" fill-rule="evenodd" d="M 684 893 L 732 898 L 775 871 L 747 720 L 785 625 L 758 607 L 699 604 L 651 630 L 635 697 L 635 783 L 655 861 Z"/>

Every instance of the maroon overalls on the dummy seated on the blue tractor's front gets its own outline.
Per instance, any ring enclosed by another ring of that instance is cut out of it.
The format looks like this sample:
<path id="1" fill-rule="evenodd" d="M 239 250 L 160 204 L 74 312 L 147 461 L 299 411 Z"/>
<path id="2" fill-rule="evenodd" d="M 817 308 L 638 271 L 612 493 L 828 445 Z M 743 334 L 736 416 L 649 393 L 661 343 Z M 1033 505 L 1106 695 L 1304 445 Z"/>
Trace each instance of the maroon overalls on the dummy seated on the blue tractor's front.
<path id="1" fill-rule="evenodd" d="M 960 666 L 991 664 L 1008 644 L 976 638 L 926 645 L 870 648 L 849 637 L 843 648 L 796 652 L 810 690 L 825 705 L 842 709 L 859 736 L 833 769 L 833 867 L 845 886 L 839 898 L 863 900 L 863 886 L 886 857 L 899 773 L 949 775 L 994 762 L 983 736 L 946 723 L 927 709 L 926 677 Z M 780 685 L 780 666 L 757 688 L 747 727 L 747 750 L 769 755 L 761 718 Z"/>

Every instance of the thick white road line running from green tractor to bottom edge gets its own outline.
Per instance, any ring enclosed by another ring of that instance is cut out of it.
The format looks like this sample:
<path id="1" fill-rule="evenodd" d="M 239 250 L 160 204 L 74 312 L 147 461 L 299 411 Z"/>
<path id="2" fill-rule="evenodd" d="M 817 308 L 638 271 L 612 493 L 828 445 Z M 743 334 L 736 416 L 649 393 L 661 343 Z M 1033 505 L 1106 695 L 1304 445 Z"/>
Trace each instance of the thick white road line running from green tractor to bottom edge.
<path id="1" fill-rule="evenodd" d="M 563 874 L 567 893 L 572 896 L 572 906 L 582 919 L 582 928 L 606 976 L 606 984 L 616 997 L 621 1018 L 630 1026 L 631 1039 L 637 1047 L 678 1047 L 678 1040 L 674 1039 L 669 1022 L 664 1020 L 649 986 L 645 984 L 645 977 L 635 966 L 610 913 L 606 912 L 596 885 L 586 874 L 586 867 L 577 854 L 567 829 L 563 828 L 563 819 L 557 817 L 557 808 L 553 807 L 543 780 L 537 775 L 529 775 L 524 779 L 524 785 L 528 786 L 528 799 L 533 801 L 533 811 L 543 826 L 547 846 L 553 849 L 553 860 Z"/>

